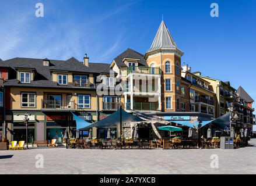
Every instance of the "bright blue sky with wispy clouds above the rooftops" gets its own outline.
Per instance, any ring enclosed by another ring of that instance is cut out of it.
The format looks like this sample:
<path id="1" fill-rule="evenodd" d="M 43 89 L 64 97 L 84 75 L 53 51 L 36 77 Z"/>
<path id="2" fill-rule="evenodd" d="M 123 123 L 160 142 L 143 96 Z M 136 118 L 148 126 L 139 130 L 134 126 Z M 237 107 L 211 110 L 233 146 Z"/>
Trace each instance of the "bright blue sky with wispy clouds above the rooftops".
<path id="1" fill-rule="evenodd" d="M 211 3 L 219 17 L 211 17 Z M 43 3 L 44 17 L 36 17 Z M 145 53 L 162 15 L 181 62 L 203 76 L 241 85 L 256 101 L 256 1 L 1 0 L 0 58 L 110 63 L 127 48 Z"/>

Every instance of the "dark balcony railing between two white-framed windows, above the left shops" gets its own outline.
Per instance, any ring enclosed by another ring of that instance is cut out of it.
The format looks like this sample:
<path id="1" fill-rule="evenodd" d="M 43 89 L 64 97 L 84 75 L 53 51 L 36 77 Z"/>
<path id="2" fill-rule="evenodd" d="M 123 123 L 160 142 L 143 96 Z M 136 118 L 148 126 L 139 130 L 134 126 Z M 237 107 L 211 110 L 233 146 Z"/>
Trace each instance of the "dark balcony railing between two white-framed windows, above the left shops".
<path id="1" fill-rule="evenodd" d="M 42 109 L 75 109 L 75 102 L 42 100 Z"/>

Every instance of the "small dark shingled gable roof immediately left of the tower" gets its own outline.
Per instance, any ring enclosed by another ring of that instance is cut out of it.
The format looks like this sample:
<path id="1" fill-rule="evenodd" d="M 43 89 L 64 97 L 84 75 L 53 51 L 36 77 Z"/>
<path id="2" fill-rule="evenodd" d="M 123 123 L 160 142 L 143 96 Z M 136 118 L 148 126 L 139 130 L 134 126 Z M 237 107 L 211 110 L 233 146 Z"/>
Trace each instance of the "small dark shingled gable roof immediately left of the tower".
<path id="1" fill-rule="evenodd" d="M 122 62 L 124 58 L 139 59 L 139 66 L 148 66 L 146 60 L 144 59 L 144 56 L 141 53 L 136 52 L 130 48 L 122 52 L 119 56 L 117 56 L 117 58 L 114 59 L 115 64 L 117 64 L 117 66 L 127 66 L 124 62 Z"/>

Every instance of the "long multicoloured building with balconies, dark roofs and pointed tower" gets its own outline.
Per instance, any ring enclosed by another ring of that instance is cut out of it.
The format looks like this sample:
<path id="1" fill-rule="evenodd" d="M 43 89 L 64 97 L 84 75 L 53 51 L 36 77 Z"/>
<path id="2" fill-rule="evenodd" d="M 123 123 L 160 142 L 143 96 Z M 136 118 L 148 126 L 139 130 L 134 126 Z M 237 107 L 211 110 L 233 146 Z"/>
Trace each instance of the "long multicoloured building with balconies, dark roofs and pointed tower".
<path id="1" fill-rule="evenodd" d="M 87 55 L 82 62 L 0 60 L 0 136 L 25 140 L 23 116 L 29 113 L 29 142 L 52 138 L 62 142 L 66 129 L 75 133 L 73 114 L 94 123 L 120 107 L 163 119 L 196 121 L 222 116 L 231 104 L 240 124 L 253 123 L 253 99 L 243 88 L 236 91 L 229 82 L 192 73 L 188 65 L 181 66 L 183 54 L 162 21 L 144 55 L 128 48 L 110 64 L 89 62 Z M 93 131 L 98 137 L 105 133 L 106 128 Z M 120 136 L 120 128 L 111 128 L 111 134 Z"/>

